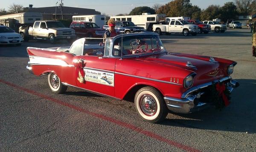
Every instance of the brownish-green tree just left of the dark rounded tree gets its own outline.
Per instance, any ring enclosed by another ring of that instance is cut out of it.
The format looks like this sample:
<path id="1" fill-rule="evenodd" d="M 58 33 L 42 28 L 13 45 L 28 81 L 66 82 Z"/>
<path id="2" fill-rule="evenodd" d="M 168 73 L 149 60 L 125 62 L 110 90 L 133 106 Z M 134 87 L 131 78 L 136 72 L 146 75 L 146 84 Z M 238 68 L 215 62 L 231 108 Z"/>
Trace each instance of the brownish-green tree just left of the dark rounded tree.
<path id="1" fill-rule="evenodd" d="M 201 13 L 201 20 L 212 20 L 220 18 L 220 6 L 210 5 Z"/>

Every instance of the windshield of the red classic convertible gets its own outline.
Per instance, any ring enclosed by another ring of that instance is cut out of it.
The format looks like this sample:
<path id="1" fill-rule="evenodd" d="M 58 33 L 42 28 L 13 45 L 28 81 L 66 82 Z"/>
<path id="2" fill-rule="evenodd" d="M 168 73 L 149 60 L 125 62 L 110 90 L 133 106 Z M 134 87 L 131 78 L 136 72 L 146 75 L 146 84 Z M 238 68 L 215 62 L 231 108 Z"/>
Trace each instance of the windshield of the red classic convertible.
<path id="1" fill-rule="evenodd" d="M 158 35 L 132 35 L 119 37 L 113 42 L 113 56 L 137 56 L 166 52 Z"/>

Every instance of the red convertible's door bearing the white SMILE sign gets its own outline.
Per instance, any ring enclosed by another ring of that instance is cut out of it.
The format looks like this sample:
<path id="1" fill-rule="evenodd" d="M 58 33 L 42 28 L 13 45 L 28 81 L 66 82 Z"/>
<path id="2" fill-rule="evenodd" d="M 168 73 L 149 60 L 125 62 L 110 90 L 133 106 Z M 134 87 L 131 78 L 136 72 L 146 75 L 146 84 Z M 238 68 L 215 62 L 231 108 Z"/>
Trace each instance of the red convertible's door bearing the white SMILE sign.
<path id="1" fill-rule="evenodd" d="M 109 47 L 105 47 L 105 49 L 109 51 Z M 85 90 L 114 97 L 116 58 L 105 56 L 98 57 L 96 56 L 97 51 L 104 53 L 104 50 L 95 50 L 95 52 L 89 53 L 91 55 L 83 55 L 84 53 L 82 53 L 74 56 L 73 59 L 75 62 L 84 62 L 84 82 L 81 83 L 77 79 L 78 77 L 76 77 L 76 84 L 78 87 Z M 76 69 L 79 68 L 76 64 L 74 65 Z M 78 71 L 76 70 L 76 72 Z M 77 74 L 77 76 L 79 75 Z"/>

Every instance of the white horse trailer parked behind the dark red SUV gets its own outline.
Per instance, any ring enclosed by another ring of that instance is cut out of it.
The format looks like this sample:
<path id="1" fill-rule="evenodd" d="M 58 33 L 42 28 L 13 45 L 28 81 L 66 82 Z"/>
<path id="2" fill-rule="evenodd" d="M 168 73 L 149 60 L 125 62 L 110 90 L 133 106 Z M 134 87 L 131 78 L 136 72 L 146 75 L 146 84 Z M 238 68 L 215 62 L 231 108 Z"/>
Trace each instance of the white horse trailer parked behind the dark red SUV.
<path id="1" fill-rule="evenodd" d="M 100 28 L 106 24 L 104 15 L 76 15 L 72 16 L 73 21 L 86 21 L 96 23 Z"/>

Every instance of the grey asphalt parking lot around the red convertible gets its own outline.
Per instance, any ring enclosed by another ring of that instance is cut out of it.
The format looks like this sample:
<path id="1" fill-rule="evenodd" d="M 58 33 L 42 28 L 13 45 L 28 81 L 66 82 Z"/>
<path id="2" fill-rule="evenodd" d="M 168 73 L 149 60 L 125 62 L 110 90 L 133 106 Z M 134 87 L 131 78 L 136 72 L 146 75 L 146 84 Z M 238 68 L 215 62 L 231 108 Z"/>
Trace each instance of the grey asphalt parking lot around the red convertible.
<path id="1" fill-rule="evenodd" d="M 67 46 L 29 41 L 0 46 L 0 151 L 256 151 L 256 59 L 249 29 L 160 36 L 169 52 L 236 61 L 240 83 L 230 106 L 192 114 L 169 113 L 160 124 L 144 122 L 134 103 L 69 87 L 54 94 L 47 76 L 26 70 L 26 47 Z"/>

